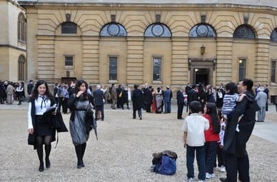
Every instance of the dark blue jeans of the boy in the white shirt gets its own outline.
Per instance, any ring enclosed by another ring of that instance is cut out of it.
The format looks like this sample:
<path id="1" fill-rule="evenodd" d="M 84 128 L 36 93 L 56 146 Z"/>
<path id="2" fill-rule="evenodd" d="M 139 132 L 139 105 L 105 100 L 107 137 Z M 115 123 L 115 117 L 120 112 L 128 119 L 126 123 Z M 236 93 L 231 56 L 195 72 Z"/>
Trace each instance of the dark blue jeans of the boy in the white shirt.
<path id="1" fill-rule="evenodd" d="M 194 178 L 194 156 L 196 151 L 196 160 L 198 165 L 198 179 L 206 180 L 205 169 L 205 148 L 204 146 L 188 146 L 186 145 L 186 168 L 188 169 L 187 177 Z"/>

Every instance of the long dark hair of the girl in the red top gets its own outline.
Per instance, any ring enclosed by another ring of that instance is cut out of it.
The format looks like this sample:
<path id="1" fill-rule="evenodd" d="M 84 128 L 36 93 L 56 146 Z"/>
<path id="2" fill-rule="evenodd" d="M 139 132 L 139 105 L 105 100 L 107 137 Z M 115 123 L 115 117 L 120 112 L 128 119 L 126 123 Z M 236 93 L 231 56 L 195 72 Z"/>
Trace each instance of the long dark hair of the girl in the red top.
<path id="1" fill-rule="evenodd" d="M 216 103 L 208 102 L 206 103 L 206 114 L 211 116 L 211 125 L 213 126 L 213 133 L 219 133 L 221 131 L 221 126 L 219 123 L 218 113 L 216 110 Z"/>

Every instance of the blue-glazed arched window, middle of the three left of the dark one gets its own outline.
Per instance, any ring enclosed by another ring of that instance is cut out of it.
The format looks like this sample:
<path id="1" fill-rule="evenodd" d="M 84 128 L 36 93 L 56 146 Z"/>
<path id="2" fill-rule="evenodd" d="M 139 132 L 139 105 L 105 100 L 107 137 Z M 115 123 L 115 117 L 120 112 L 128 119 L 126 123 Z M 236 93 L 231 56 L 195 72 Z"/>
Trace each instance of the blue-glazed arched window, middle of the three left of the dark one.
<path id="1" fill-rule="evenodd" d="M 171 37 L 171 31 L 168 27 L 161 23 L 151 24 L 144 32 L 146 37 Z"/>

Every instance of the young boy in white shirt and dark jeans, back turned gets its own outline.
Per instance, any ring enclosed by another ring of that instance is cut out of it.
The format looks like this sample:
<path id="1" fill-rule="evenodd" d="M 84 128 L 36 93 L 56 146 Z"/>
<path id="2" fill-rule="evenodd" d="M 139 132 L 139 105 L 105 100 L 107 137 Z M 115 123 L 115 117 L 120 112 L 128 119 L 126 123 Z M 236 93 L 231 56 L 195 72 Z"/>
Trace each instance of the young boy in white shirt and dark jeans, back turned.
<path id="1" fill-rule="evenodd" d="M 206 118 L 201 115 L 202 106 L 198 101 L 192 101 L 189 104 L 190 115 L 186 116 L 183 121 L 183 147 L 186 148 L 186 167 L 188 169 L 187 181 L 191 182 L 194 178 L 193 162 L 196 151 L 196 159 L 198 164 L 199 182 L 205 181 L 205 136 L 204 131 L 208 130 L 209 123 Z"/>

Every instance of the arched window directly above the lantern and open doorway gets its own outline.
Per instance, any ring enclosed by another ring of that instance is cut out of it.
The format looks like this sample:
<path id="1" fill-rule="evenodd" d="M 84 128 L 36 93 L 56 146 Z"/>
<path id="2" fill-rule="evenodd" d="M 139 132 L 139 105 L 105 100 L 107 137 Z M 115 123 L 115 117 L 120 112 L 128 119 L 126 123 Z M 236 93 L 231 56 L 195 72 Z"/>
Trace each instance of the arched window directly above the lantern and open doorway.
<path id="1" fill-rule="evenodd" d="M 216 32 L 208 24 L 197 24 L 193 26 L 188 35 L 190 37 L 216 37 Z"/>

